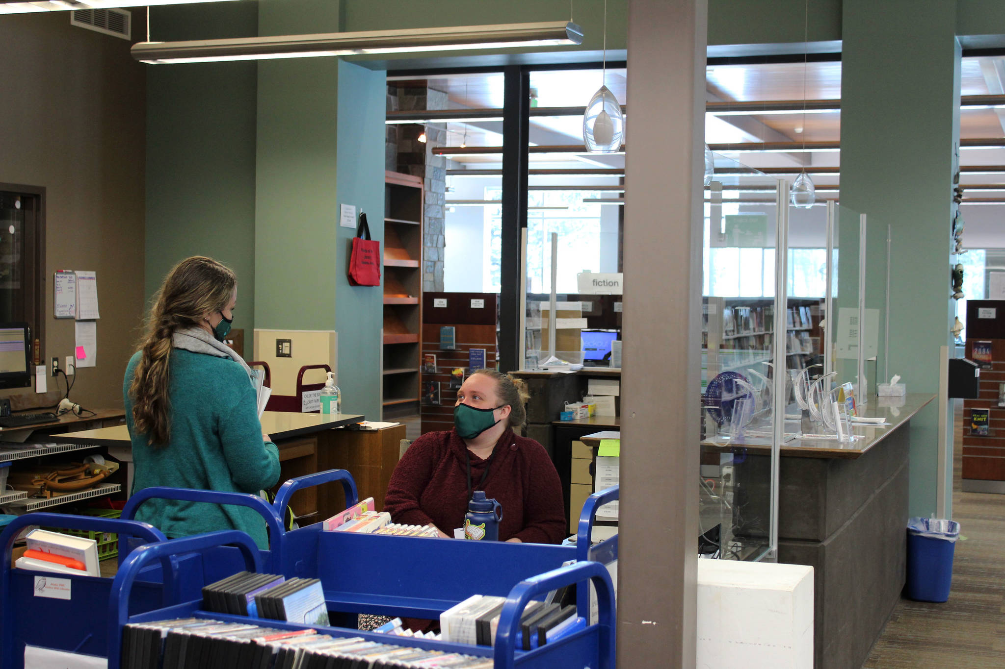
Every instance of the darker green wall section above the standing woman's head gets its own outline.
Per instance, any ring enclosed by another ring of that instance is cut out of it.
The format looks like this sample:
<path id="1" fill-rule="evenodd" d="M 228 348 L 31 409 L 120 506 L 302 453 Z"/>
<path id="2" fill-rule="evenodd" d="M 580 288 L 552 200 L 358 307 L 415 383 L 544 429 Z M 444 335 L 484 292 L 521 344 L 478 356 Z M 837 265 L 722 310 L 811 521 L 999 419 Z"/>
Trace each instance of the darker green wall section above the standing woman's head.
<path id="1" fill-rule="evenodd" d="M 156 7 L 154 39 L 257 32 L 255 3 Z M 171 266 L 211 256 L 237 272 L 234 327 L 254 326 L 255 63 L 144 65 L 147 74 L 145 296 Z"/>

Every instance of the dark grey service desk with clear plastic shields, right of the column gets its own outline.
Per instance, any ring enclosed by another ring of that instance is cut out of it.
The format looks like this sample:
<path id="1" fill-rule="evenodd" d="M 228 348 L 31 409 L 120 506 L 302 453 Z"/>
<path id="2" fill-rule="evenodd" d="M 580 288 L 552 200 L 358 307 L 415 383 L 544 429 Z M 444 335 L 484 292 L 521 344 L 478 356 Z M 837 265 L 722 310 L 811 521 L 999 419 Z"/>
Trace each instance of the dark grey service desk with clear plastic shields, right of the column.
<path id="1" fill-rule="evenodd" d="M 870 397 L 862 415 L 889 425 L 856 427 L 864 438 L 854 442 L 794 439 L 781 446 L 778 562 L 814 569 L 817 669 L 860 667 L 900 598 L 909 423 L 933 399 Z M 743 519 L 769 517 L 770 447 L 701 446 L 734 454 L 735 489 L 746 489 L 748 500 L 743 518 L 734 519 L 735 534 L 763 535 L 761 527 L 745 528 Z"/>

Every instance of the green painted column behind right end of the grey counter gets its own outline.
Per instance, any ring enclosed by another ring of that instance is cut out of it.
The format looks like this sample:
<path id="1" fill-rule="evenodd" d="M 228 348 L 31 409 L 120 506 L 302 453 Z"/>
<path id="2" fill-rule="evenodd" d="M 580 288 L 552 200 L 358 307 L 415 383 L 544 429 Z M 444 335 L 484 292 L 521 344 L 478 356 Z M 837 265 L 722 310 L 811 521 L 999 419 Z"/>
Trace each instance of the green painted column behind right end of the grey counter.
<path id="1" fill-rule="evenodd" d="M 951 322 L 956 5 L 844 0 L 843 7 L 841 204 L 865 213 L 870 228 L 892 226 L 889 371 L 909 392 L 936 393 Z M 867 253 L 871 264 L 885 249 L 872 244 Z M 936 402 L 911 422 L 912 515 L 936 509 L 938 423 Z"/>

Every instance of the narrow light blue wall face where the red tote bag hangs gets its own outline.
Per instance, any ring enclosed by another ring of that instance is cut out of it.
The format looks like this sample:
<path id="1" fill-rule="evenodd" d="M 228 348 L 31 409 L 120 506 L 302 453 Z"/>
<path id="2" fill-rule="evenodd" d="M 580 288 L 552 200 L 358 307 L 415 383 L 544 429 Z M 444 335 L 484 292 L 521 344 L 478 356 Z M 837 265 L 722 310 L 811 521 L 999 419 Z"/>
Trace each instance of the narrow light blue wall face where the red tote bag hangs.
<path id="1" fill-rule="evenodd" d="M 366 212 L 373 239 L 384 242 L 384 72 L 339 64 L 339 205 Z M 380 148 L 380 150 L 377 149 Z M 335 312 L 339 332 L 339 387 L 347 406 L 371 420 L 380 417 L 381 287 L 350 286 L 346 270 L 355 230 L 337 228 Z"/>

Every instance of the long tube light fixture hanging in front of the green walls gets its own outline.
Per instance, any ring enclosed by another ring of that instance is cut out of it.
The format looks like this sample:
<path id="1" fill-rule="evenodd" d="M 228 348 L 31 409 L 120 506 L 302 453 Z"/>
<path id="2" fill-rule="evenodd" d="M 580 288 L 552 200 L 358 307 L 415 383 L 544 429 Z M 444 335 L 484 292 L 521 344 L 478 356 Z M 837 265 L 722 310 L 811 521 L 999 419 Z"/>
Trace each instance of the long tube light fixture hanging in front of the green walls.
<path id="1" fill-rule="evenodd" d="M 139 42 L 133 45 L 132 52 L 137 60 L 158 64 L 566 46 L 582 43 L 583 30 L 575 23 L 545 21 L 186 42 Z"/>

